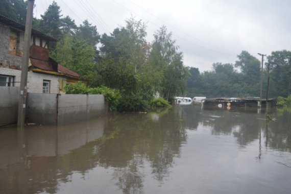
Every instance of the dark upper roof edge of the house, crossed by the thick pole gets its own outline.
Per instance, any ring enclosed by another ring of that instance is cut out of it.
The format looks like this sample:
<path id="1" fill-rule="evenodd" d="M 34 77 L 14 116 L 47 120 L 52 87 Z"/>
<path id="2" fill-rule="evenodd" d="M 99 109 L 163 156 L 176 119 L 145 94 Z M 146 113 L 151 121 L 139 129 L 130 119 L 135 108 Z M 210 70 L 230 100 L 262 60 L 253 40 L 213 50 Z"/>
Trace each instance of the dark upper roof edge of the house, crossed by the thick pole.
<path id="1" fill-rule="evenodd" d="M 21 30 L 23 32 L 25 31 L 25 25 L 23 25 L 22 23 L 19 23 L 17 21 L 14 21 L 14 20 L 12 20 L 12 19 L 10 19 L 8 17 L 5 17 L 4 15 L 1 15 L 1 14 L 0 14 L 0 22 L 6 24 L 8 26 L 11 26 L 13 28 L 16 28 L 18 30 Z M 43 38 L 45 38 L 47 40 L 50 40 L 50 41 L 57 41 L 57 39 L 55 39 L 55 38 L 53 38 L 51 36 L 48 36 L 48 35 L 40 32 L 38 30 L 35 30 L 35 29 L 32 29 L 31 33 L 34 34 L 34 35 L 37 35 L 39 37 L 43 37 Z"/>

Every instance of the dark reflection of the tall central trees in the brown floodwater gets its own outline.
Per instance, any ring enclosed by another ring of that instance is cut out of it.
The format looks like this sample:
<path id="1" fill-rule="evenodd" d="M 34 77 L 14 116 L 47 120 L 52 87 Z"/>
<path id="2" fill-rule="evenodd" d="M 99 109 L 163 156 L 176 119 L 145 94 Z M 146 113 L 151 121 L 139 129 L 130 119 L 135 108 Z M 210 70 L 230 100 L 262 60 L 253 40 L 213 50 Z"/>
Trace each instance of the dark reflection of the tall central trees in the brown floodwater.
<path id="1" fill-rule="evenodd" d="M 103 137 L 107 140 L 100 140 L 98 158 L 100 165 L 117 167 L 114 178 L 124 193 L 142 193 L 145 162 L 150 163 L 153 177 L 160 183 L 169 175 L 181 143 L 186 141 L 185 124 L 177 114 L 166 113 L 158 122 L 156 115 L 154 120 L 149 115 L 119 115 L 110 120 Z"/>

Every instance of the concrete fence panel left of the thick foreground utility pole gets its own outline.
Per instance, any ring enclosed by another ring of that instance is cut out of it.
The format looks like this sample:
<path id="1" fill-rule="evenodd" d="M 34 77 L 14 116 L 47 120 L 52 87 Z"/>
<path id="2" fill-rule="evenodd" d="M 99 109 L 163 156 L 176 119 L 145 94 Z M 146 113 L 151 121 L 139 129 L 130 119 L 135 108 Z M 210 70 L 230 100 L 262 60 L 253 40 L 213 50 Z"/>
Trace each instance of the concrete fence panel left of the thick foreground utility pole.
<path id="1" fill-rule="evenodd" d="M 17 123 L 19 87 L 0 86 L 0 126 Z"/>

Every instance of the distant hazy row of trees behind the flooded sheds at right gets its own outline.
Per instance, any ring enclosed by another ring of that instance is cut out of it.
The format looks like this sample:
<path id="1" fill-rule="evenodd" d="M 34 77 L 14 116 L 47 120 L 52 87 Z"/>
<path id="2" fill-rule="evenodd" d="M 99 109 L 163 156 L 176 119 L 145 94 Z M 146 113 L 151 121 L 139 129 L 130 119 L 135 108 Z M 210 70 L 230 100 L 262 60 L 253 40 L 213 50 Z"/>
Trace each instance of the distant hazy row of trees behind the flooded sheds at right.
<path id="1" fill-rule="evenodd" d="M 189 67 L 187 95 L 216 97 L 260 96 L 261 61 L 247 51 L 237 56 L 235 63 L 214 63 L 212 70 L 200 72 Z M 275 51 L 267 56 L 263 66 L 262 98 L 287 98 L 291 93 L 291 51 Z M 270 74 L 268 74 L 268 68 Z"/>

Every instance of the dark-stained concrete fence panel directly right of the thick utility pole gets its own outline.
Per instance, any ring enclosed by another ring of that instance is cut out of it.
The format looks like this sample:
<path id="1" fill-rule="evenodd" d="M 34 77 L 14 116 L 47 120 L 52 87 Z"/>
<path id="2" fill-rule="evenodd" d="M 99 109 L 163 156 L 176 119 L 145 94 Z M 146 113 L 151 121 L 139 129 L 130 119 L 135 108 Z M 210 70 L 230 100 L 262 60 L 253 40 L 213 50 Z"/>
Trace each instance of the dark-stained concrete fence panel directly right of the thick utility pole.
<path id="1" fill-rule="evenodd" d="M 57 124 L 57 94 L 28 93 L 27 123 Z"/>

